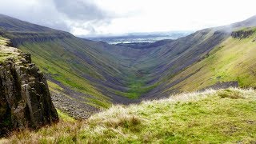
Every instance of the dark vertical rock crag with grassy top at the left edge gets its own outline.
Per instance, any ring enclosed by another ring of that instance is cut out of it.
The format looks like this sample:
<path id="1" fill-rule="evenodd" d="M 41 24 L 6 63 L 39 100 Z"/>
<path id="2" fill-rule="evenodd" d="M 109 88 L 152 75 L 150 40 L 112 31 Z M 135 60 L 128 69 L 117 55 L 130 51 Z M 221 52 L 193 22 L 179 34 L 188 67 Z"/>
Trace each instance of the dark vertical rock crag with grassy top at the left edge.
<path id="1" fill-rule="evenodd" d="M 0 46 L 0 135 L 58 121 L 46 78 L 30 54 Z"/>

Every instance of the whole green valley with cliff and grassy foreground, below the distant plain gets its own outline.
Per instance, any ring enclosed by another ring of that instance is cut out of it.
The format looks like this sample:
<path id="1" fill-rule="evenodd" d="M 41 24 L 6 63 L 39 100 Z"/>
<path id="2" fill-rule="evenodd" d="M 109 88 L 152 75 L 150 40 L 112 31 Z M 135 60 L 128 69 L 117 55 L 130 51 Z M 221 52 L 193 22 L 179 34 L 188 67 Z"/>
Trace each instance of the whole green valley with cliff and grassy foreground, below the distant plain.
<path id="1" fill-rule="evenodd" d="M 256 16 L 111 45 L 0 14 L 0 143 L 254 143 L 255 48 Z"/>

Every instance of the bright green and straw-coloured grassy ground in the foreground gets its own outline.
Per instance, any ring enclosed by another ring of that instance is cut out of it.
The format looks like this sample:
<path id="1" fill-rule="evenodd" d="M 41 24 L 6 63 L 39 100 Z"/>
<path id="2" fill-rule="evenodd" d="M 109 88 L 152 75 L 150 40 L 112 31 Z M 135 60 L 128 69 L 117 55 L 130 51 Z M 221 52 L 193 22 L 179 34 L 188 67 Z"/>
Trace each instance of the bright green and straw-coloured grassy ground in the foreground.
<path id="1" fill-rule="evenodd" d="M 139 105 L 112 106 L 88 120 L 10 134 L 0 143 L 256 142 L 255 90 L 206 90 Z"/>

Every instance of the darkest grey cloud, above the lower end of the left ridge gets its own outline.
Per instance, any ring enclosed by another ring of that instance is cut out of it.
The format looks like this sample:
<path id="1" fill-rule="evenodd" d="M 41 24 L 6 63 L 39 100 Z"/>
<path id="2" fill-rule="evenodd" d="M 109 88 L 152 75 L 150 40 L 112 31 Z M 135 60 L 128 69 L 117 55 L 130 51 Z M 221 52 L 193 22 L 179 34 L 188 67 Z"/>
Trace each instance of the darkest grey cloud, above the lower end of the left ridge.
<path id="1" fill-rule="evenodd" d="M 81 28 L 98 34 L 98 26 L 110 25 L 116 14 L 102 10 L 89 0 L 53 0 L 54 6 L 59 13 L 65 14 L 71 21 L 71 27 Z"/>

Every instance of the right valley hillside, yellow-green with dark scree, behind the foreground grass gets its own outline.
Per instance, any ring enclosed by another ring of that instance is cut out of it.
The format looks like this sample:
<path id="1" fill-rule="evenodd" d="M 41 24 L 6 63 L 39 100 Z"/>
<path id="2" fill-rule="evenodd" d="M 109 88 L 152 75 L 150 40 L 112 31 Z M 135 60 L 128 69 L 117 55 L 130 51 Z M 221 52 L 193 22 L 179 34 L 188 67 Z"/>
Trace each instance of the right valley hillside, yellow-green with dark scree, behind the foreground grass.
<path id="1" fill-rule="evenodd" d="M 177 49 L 182 50 L 186 42 L 190 42 L 187 44 L 189 48 L 178 54 L 178 58 L 172 57 L 174 59 L 171 61 L 165 59 L 170 64 L 167 64 L 164 72 L 156 74 L 160 78 L 159 85 L 145 94 L 145 98 L 161 98 L 172 93 L 207 87 L 254 86 L 255 28 L 248 26 L 256 26 L 255 16 L 230 26 L 199 30 L 185 38 L 179 38 L 177 43 L 181 46 Z M 198 35 L 202 36 L 201 39 L 194 41 Z M 179 43 L 181 39 L 185 42 Z M 169 48 L 168 46 L 166 49 Z M 178 50 L 174 50 L 172 54 Z M 164 60 L 153 62 L 160 63 Z"/>

